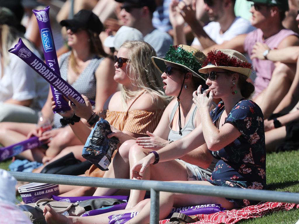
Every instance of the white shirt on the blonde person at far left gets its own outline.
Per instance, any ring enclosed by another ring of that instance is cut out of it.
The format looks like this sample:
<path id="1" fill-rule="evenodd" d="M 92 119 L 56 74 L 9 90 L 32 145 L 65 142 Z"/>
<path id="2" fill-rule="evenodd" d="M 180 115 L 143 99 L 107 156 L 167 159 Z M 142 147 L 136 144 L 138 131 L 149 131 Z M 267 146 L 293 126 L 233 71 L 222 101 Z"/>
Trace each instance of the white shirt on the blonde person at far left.
<path id="1" fill-rule="evenodd" d="M 26 46 L 29 47 L 27 43 Z M 38 51 L 33 50 L 33 53 L 40 58 Z M 41 109 L 48 96 L 48 82 L 18 56 L 12 53 L 8 55 L 10 63 L 4 67 L 3 74 L 0 63 L 0 102 L 33 99 L 30 107 Z"/>

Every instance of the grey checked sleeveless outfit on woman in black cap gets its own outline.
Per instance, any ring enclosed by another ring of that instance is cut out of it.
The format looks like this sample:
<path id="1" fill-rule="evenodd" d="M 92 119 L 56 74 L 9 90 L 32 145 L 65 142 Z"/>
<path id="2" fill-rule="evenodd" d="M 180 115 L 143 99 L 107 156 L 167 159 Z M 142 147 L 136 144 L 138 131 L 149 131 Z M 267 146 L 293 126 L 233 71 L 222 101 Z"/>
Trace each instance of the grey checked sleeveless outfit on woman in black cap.
<path id="1" fill-rule="evenodd" d="M 67 74 L 68 74 L 68 60 L 71 55 L 71 51 L 62 54 L 60 56 L 60 74 L 61 77 L 67 80 Z M 89 64 L 86 66 L 86 68 L 83 70 L 83 72 L 80 74 L 80 76 L 71 84 L 71 86 L 77 90 L 80 94 L 83 94 L 88 97 L 88 99 L 94 100 L 95 94 L 96 94 L 96 78 L 95 78 L 95 72 L 97 68 L 100 65 L 100 62 L 104 58 L 100 58 L 98 56 L 94 56 L 89 62 Z M 59 114 L 54 114 L 54 120 L 53 120 L 53 127 L 54 128 L 60 128 L 60 116 Z"/>

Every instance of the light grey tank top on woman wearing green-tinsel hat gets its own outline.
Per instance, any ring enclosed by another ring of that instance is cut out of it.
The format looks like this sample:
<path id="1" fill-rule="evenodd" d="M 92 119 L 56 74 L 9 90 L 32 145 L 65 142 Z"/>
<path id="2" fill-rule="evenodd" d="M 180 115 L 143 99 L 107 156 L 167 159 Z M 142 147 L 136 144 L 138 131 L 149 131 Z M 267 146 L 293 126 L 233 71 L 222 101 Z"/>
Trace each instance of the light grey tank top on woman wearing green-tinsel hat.
<path id="1" fill-rule="evenodd" d="M 170 113 L 170 124 L 173 123 L 173 117 L 174 117 L 178 107 L 179 107 L 179 103 L 176 102 L 176 105 L 174 106 L 173 110 Z M 194 120 L 194 116 L 195 116 L 195 113 L 196 113 L 196 109 L 197 108 L 195 106 L 188 122 L 185 123 L 185 126 L 182 128 L 182 130 L 181 130 L 182 135 L 179 134 L 179 131 L 173 131 L 172 128 L 170 127 L 170 124 L 169 124 L 170 132 L 169 132 L 169 135 L 168 135 L 168 141 L 176 141 L 178 139 L 181 139 L 182 137 L 189 134 L 191 131 L 193 131 L 195 129 L 193 120 Z M 175 124 L 173 124 L 173 125 L 175 125 Z"/>

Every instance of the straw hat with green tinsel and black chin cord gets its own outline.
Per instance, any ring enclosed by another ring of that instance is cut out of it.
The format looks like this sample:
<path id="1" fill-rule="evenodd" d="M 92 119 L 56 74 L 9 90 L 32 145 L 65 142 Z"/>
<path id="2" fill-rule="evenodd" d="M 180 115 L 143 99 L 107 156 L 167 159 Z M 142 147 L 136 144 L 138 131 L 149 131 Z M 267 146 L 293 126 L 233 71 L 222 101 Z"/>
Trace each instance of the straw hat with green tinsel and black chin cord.
<path id="1" fill-rule="evenodd" d="M 170 62 L 190 71 L 193 76 L 205 80 L 199 75 L 198 70 L 202 68 L 202 64 L 207 57 L 200 50 L 187 45 L 170 45 L 165 57 L 152 57 L 154 65 L 163 73 L 166 65 L 164 62 Z"/>

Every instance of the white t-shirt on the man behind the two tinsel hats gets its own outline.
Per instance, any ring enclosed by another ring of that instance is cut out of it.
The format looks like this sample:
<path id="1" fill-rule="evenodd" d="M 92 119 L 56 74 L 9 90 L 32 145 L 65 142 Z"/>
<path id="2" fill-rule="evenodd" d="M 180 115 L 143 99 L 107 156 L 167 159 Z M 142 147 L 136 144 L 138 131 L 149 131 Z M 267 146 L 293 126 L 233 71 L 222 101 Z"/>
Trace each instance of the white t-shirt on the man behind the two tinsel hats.
<path id="1" fill-rule="evenodd" d="M 203 27 L 208 36 L 216 43 L 222 44 L 224 41 L 233 39 L 239 34 L 249 33 L 255 29 L 251 26 L 250 22 L 241 17 L 236 17 L 234 22 L 225 31 L 225 33 L 220 34 L 220 24 L 219 22 L 210 22 Z M 201 45 L 199 40 L 195 37 L 191 45 Z"/>

